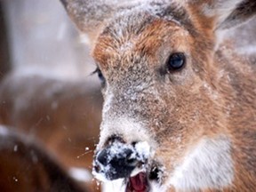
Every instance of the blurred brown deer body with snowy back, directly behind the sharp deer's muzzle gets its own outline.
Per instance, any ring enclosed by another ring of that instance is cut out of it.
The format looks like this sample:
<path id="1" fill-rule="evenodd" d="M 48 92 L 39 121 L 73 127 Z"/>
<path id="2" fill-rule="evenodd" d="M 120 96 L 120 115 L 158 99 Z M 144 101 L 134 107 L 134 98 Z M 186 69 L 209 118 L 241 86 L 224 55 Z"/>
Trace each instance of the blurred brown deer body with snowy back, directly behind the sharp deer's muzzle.
<path id="1" fill-rule="evenodd" d="M 91 170 L 101 100 L 100 90 L 84 82 L 9 73 L 0 84 L 0 123 L 44 143 L 66 169 Z"/>

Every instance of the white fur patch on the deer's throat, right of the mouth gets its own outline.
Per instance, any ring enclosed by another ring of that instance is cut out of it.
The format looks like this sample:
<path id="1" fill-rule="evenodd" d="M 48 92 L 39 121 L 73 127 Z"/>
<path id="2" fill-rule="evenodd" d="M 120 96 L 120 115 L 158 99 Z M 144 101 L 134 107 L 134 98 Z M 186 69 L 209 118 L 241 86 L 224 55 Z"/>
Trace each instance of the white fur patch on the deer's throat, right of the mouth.
<path id="1" fill-rule="evenodd" d="M 170 184 L 185 191 L 228 187 L 234 179 L 230 146 L 226 137 L 203 140 L 174 170 Z"/>

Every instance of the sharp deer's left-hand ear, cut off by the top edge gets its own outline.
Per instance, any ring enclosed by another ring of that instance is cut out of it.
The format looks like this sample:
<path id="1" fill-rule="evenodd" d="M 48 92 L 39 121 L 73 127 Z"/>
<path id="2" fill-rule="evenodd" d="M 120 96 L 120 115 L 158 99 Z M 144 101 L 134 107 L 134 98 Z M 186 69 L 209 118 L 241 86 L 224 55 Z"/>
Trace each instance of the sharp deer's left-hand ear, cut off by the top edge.
<path id="1" fill-rule="evenodd" d="M 100 33 L 100 28 L 115 11 L 111 0 L 60 0 L 69 17 L 81 32 L 90 36 L 91 40 Z"/>

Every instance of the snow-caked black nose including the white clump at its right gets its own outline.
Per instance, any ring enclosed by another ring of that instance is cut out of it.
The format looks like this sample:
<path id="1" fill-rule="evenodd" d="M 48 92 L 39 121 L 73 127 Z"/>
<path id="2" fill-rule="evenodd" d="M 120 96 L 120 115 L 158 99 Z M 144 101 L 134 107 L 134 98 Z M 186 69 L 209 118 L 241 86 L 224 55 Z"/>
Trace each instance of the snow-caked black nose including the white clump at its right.
<path id="1" fill-rule="evenodd" d="M 102 181 L 128 179 L 136 175 L 142 178 L 141 172 L 146 172 L 149 152 L 150 147 L 146 141 L 125 144 L 115 140 L 96 153 L 92 173 Z"/>

